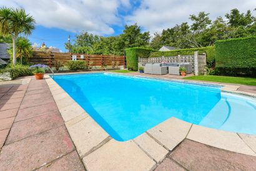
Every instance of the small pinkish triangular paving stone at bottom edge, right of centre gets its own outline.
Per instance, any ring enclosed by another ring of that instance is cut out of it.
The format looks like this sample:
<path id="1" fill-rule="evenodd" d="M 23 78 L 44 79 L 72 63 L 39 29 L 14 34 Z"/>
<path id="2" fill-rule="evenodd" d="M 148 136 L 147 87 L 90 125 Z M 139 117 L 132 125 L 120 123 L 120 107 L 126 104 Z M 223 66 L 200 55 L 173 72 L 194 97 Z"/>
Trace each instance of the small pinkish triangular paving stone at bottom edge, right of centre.
<path id="1" fill-rule="evenodd" d="M 155 169 L 155 171 L 169 171 L 169 170 L 185 171 L 183 167 L 181 167 L 179 164 L 175 163 L 174 160 L 171 160 L 169 158 L 164 159 L 164 161 Z"/>

